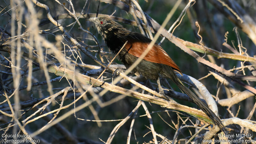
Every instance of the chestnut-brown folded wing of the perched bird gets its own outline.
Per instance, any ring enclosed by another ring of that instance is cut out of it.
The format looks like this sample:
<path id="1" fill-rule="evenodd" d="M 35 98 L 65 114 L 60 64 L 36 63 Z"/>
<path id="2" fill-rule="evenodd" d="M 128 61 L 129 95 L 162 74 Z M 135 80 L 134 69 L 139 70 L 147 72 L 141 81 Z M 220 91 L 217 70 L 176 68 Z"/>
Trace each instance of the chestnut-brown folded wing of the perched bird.
<path id="1" fill-rule="evenodd" d="M 146 51 L 149 43 L 139 42 L 136 40 L 130 40 L 125 45 L 125 49 L 128 53 L 133 56 L 140 57 L 144 51 Z M 164 49 L 158 44 L 154 44 L 152 49 L 148 52 L 148 54 L 143 58 L 143 60 L 147 60 L 154 63 L 161 63 L 164 65 L 168 65 L 173 68 L 176 72 L 181 73 L 180 68 L 176 65 L 176 63 L 169 57 L 169 55 L 164 51 Z"/>

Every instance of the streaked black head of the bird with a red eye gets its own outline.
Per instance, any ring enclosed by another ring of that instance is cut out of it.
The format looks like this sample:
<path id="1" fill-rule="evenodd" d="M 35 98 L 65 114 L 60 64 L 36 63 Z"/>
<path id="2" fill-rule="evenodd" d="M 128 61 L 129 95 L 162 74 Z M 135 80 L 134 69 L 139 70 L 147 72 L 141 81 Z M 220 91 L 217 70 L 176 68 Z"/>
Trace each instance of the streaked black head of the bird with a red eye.
<path id="1" fill-rule="evenodd" d="M 100 35 L 105 39 L 109 35 L 117 35 L 119 31 L 127 31 L 122 25 L 118 24 L 116 21 L 109 19 L 108 17 L 100 17 L 100 18 L 90 18 L 88 21 L 92 21 L 95 23 L 95 26 L 98 29 Z"/>

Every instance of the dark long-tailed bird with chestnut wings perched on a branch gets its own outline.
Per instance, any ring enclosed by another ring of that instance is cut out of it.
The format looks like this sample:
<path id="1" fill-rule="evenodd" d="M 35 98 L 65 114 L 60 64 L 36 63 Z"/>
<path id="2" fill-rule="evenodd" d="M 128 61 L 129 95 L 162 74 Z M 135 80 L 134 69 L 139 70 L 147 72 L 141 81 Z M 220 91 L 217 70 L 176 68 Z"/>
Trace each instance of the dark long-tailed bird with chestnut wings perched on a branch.
<path id="1" fill-rule="evenodd" d="M 139 59 L 140 55 L 147 49 L 149 43 L 152 41 L 140 33 L 127 30 L 115 20 L 108 17 L 93 17 L 89 18 L 88 21 L 95 24 L 98 33 L 114 54 L 117 54 L 127 41 L 127 44 L 117 55 L 118 60 L 122 61 L 126 68 L 129 68 Z M 203 110 L 210 120 L 212 120 L 213 124 L 217 125 L 220 130 L 224 132 L 224 125 L 221 123 L 220 119 L 180 81 L 178 76 L 176 76 L 176 73 L 182 75 L 180 68 L 160 45 L 154 44 L 148 54 L 132 70 L 132 73 L 139 73 L 146 79 L 157 80 L 157 83 L 159 82 L 158 85 L 160 85 L 159 78 L 170 78 L 182 92 L 186 93 L 196 105 Z M 159 91 L 160 89 L 161 88 L 159 88 Z"/>

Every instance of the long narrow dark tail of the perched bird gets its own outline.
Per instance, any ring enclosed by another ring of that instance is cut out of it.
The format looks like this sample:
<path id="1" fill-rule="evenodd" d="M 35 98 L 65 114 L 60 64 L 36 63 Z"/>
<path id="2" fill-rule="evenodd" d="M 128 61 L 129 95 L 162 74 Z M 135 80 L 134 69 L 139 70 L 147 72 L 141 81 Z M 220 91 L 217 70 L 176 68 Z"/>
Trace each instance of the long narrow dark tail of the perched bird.
<path id="1" fill-rule="evenodd" d="M 182 92 L 185 92 L 195 103 L 198 105 L 203 112 L 212 120 L 215 125 L 218 125 L 222 132 L 225 132 L 224 125 L 221 123 L 220 119 L 213 113 L 213 111 L 203 102 L 201 101 L 193 92 L 191 92 L 185 85 L 182 84 L 178 76 L 176 76 L 175 72 L 170 72 L 170 78 L 172 81 L 180 88 Z"/>

